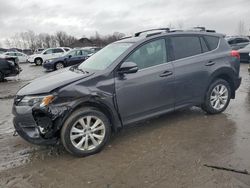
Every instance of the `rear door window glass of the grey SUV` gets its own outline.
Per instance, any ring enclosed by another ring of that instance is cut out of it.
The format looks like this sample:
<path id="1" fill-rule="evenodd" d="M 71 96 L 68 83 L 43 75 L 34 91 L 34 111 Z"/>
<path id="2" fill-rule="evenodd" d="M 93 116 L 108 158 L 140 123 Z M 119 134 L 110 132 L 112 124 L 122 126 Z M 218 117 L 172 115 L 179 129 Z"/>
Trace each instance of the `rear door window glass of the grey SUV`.
<path id="1" fill-rule="evenodd" d="M 199 37 L 178 36 L 172 37 L 171 40 L 175 60 L 202 53 Z"/>

